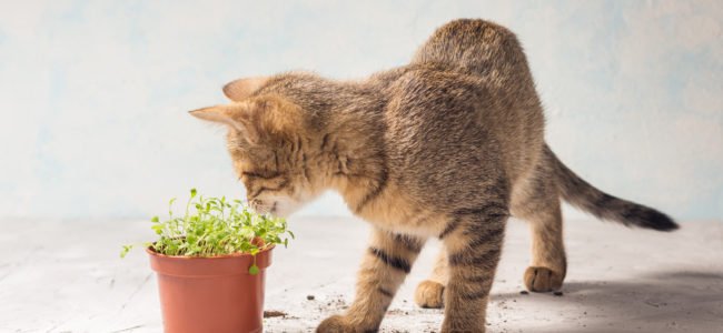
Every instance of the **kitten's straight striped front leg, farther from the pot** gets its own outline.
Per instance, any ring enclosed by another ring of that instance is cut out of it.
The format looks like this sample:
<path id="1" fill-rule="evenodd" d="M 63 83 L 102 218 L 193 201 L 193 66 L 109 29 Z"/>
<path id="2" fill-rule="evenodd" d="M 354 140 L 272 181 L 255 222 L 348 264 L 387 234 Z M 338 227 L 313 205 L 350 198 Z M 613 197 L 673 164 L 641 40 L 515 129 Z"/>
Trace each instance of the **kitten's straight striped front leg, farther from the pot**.
<path id="1" fill-rule="evenodd" d="M 508 215 L 503 202 L 454 212 L 443 238 L 448 255 L 443 333 L 485 332 L 487 301 Z"/>

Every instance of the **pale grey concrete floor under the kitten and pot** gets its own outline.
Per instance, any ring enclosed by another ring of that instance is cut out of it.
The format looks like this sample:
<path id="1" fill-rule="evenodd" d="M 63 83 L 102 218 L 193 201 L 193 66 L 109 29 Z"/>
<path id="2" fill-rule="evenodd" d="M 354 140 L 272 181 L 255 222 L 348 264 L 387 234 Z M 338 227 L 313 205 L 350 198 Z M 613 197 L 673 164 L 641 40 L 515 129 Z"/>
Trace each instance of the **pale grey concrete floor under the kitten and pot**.
<path id="1" fill-rule="evenodd" d="M 0 221 L 0 332 L 161 332 L 155 275 L 142 251 L 143 221 Z M 297 240 L 275 250 L 266 332 L 313 332 L 353 297 L 367 226 L 351 219 L 291 219 Z M 723 332 L 723 223 L 689 222 L 675 233 L 568 221 L 563 296 L 522 295 L 528 234 L 512 221 L 488 307 L 488 332 Z M 423 252 L 382 332 L 435 332 L 439 310 L 418 309 Z M 314 295 L 308 301 L 307 295 Z"/>

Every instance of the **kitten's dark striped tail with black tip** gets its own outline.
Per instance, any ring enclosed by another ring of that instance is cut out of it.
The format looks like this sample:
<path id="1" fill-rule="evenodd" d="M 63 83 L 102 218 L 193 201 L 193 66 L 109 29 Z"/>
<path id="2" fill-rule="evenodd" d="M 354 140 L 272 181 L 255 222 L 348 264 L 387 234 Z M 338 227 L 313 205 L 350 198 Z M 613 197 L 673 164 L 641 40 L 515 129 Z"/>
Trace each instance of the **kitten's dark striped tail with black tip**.
<path id="1" fill-rule="evenodd" d="M 627 226 L 658 231 L 673 231 L 679 228 L 673 219 L 660 211 L 595 189 L 565 167 L 547 144 L 545 144 L 545 158 L 552 164 L 562 198 L 570 204 L 598 219 L 615 221 Z"/>

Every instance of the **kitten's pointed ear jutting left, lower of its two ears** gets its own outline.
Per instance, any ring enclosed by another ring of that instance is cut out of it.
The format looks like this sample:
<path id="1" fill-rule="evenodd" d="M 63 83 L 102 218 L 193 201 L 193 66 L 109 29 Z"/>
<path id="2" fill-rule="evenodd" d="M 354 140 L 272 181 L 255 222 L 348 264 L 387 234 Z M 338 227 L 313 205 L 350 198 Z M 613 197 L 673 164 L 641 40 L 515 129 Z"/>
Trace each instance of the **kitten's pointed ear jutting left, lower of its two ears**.
<path id="1" fill-rule="evenodd" d="M 241 133 L 249 143 L 258 143 L 259 141 L 258 125 L 248 103 L 216 105 L 189 111 L 188 113 L 198 119 L 226 124 Z"/>

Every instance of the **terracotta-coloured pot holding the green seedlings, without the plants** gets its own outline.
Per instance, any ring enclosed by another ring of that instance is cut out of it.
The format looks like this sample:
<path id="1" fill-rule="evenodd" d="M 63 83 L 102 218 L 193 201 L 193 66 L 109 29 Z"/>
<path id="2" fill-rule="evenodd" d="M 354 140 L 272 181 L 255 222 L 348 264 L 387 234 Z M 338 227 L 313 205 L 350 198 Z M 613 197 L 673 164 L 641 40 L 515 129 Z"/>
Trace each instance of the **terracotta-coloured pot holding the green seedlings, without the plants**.
<path id="1" fill-rule="evenodd" d="M 263 332 L 264 273 L 273 249 L 256 254 L 259 271 L 251 275 L 250 254 L 176 256 L 148 248 L 150 266 L 158 273 L 165 332 Z"/>

